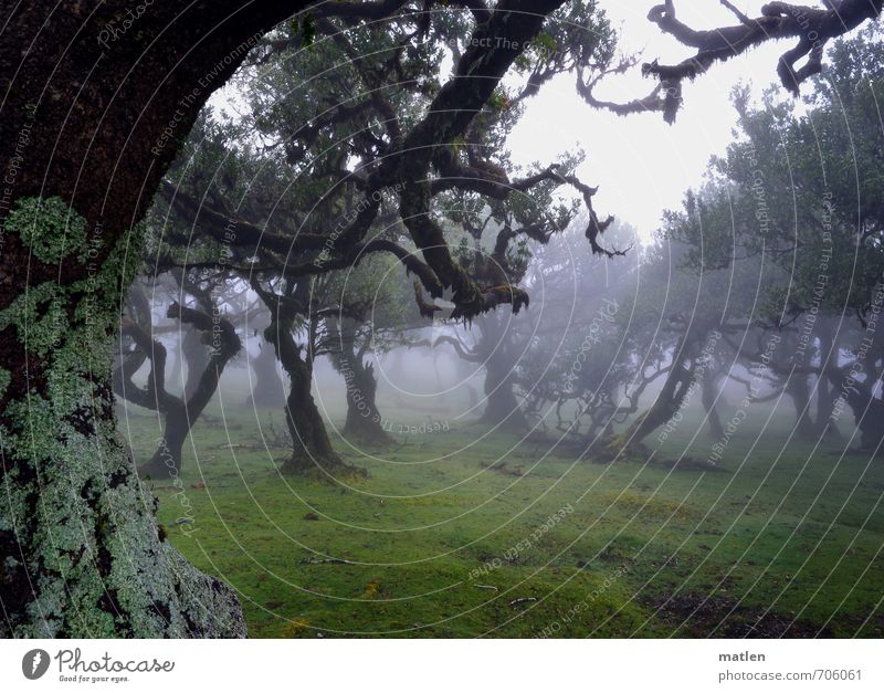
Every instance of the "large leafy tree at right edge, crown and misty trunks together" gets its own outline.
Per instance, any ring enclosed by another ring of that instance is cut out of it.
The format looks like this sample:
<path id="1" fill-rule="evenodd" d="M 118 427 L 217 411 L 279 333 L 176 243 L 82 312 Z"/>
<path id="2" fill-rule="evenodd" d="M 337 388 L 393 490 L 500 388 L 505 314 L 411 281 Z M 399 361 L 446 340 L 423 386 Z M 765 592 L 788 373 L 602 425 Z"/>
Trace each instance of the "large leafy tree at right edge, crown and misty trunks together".
<path id="1" fill-rule="evenodd" d="M 757 316 L 783 334 L 783 349 L 768 359 L 779 378 L 774 385 L 792 398 L 800 435 L 836 437 L 849 408 L 869 451 L 884 440 L 875 385 L 884 372 L 876 330 L 884 262 L 882 57 L 872 30 L 838 42 L 803 115 L 772 93 L 754 108 L 738 91 L 740 139 L 713 161 L 685 214 L 670 219 L 694 266 L 729 267 L 748 256 L 778 269 L 781 280 L 766 286 L 767 311 Z M 758 365 L 762 350 L 737 351 Z"/>

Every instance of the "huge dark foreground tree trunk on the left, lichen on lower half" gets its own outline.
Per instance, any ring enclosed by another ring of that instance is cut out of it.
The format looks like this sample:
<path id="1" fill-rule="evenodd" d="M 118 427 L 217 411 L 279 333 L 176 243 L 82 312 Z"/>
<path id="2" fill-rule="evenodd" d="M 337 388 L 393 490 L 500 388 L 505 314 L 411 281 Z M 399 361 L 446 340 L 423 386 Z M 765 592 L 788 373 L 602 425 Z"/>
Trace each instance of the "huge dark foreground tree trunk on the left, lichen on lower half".
<path id="1" fill-rule="evenodd" d="M 110 364 L 136 222 L 250 42 L 306 4 L 157 2 L 104 42 L 129 2 L 0 10 L 0 637 L 245 633 L 233 592 L 160 536 Z"/>

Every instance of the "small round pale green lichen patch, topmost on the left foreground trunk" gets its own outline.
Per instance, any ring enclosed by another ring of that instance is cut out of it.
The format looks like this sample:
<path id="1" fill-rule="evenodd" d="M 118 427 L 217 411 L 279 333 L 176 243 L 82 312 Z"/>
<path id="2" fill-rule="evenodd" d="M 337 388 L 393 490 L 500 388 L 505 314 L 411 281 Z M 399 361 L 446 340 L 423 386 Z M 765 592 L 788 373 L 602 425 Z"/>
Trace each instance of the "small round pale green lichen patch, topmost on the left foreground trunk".
<path id="1" fill-rule="evenodd" d="M 21 198 L 7 217 L 8 231 L 18 233 L 38 260 L 57 264 L 67 255 L 86 259 L 86 220 L 61 198 Z"/>

